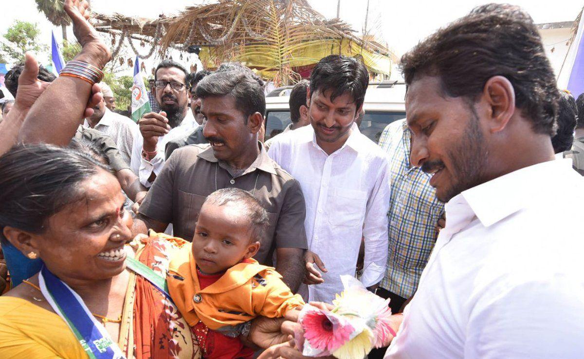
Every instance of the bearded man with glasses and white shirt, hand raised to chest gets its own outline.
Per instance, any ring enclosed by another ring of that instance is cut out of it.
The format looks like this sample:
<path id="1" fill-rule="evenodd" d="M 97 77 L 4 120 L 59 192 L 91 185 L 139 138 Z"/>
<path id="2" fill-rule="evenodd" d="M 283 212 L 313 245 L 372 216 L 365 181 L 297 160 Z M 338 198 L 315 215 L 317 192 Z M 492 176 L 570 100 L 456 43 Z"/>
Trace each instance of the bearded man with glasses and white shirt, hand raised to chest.
<path id="1" fill-rule="evenodd" d="M 146 187 L 164 165 L 166 143 L 199 126 L 189 111 L 187 75 L 186 69 L 172 60 L 164 60 L 156 68 L 153 89 L 161 111 L 144 114 L 138 121 L 140 133 L 134 139 L 130 165 Z"/>

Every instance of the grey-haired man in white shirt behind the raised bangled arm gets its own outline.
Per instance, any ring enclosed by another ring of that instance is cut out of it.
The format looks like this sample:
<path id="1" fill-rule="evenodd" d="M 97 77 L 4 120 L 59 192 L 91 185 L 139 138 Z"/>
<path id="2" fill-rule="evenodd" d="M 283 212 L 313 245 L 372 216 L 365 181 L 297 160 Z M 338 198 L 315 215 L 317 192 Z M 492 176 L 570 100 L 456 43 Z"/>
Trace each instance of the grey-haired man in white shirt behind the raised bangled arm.
<path id="1" fill-rule="evenodd" d="M 102 99 L 93 107 L 91 117 L 85 118 L 84 126 L 94 128 L 112 137 L 120 150 L 120 155 L 130 165 L 134 138 L 140 134 L 140 129 L 134 121 L 110 111 L 106 107 L 105 100 Z"/>

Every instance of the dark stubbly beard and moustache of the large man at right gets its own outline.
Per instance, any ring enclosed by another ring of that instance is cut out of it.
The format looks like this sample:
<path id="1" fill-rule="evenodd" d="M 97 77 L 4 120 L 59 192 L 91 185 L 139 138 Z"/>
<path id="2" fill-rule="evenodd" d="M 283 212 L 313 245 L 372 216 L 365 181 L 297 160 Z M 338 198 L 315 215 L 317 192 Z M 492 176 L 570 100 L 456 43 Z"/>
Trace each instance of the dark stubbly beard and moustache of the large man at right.
<path id="1" fill-rule="evenodd" d="M 472 116 L 468 119 L 468 126 L 464 134 L 446 151 L 451 162 L 448 169 L 451 184 L 450 188 L 447 188 L 440 197 L 436 194 L 438 200 L 442 202 L 448 202 L 457 194 L 485 182 L 485 175 L 482 171 L 488 162 L 488 151 L 479 127 L 478 115 L 474 107 L 472 105 L 470 107 Z M 442 161 L 425 162 L 422 165 L 422 170 L 432 172 L 434 168 L 441 166 L 444 166 Z"/>

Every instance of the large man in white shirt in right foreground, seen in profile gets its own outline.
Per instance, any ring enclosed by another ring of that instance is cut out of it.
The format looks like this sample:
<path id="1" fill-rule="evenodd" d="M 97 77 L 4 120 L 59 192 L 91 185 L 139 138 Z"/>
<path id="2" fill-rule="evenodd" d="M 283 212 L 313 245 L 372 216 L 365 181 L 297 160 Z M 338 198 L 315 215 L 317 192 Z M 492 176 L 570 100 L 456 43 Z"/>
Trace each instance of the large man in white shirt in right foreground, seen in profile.
<path id="1" fill-rule="evenodd" d="M 446 226 L 385 358 L 582 358 L 583 179 L 531 17 L 484 5 L 402 57 L 411 162 Z"/>

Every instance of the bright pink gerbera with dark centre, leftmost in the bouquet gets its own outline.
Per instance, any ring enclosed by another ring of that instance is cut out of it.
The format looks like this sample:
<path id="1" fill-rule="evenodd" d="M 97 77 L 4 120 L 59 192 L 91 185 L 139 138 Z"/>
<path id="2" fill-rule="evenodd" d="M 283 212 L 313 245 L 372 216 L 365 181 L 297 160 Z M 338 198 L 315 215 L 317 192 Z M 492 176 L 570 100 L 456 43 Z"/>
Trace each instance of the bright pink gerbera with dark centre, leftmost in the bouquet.
<path id="1" fill-rule="evenodd" d="M 304 337 L 312 347 L 329 353 L 345 344 L 355 330 L 343 318 L 319 309 L 304 315 L 302 327 Z"/>

